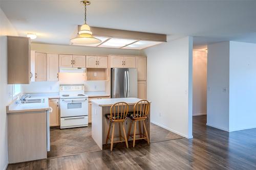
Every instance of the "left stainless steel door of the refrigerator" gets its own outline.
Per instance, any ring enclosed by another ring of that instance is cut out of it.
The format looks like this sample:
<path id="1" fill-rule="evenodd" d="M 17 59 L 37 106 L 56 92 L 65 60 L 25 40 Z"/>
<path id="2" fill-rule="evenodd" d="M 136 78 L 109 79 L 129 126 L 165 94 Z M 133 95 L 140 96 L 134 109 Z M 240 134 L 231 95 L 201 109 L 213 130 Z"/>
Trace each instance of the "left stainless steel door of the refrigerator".
<path id="1" fill-rule="evenodd" d="M 125 98 L 127 68 L 111 68 L 111 98 Z"/>

